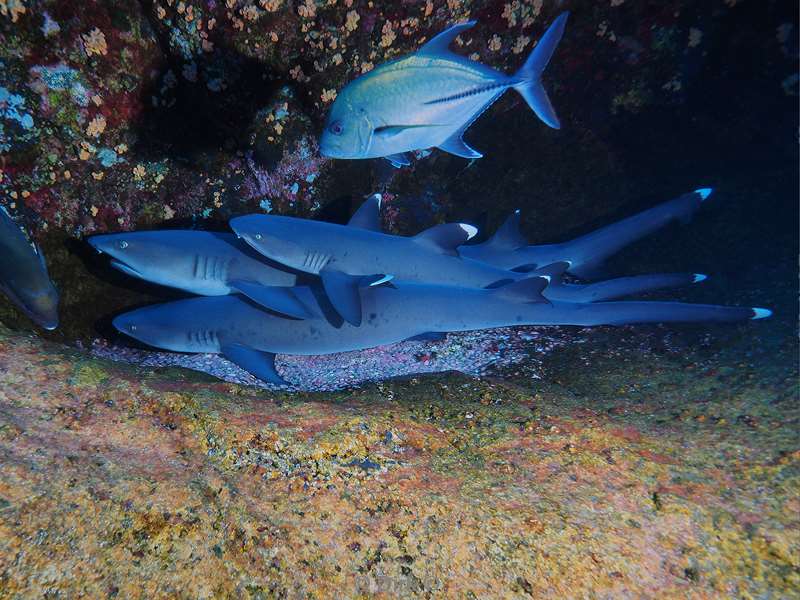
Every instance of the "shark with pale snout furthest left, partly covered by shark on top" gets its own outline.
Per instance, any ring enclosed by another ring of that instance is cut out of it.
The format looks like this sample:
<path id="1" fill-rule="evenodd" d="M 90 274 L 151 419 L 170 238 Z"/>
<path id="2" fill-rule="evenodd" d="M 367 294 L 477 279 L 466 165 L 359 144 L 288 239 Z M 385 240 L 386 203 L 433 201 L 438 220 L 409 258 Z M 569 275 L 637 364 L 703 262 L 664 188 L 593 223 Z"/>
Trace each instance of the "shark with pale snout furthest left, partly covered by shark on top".
<path id="1" fill-rule="evenodd" d="M 297 275 L 267 264 L 232 233 L 135 231 L 87 241 L 132 277 L 201 296 L 239 293 L 288 316 L 308 316 L 291 290 Z"/>

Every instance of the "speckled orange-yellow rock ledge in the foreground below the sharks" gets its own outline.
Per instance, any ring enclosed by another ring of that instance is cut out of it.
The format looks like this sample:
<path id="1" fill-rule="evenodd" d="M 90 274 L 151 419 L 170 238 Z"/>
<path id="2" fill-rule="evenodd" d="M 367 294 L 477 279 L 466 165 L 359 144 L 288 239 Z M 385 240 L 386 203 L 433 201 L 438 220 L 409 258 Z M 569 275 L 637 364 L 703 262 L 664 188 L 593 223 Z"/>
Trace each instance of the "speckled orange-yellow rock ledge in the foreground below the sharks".
<path id="1" fill-rule="evenodd" d="M 276 395 L 2 329 L 0 598 L 791 597 L 796 342 L 643 341 Z"/>

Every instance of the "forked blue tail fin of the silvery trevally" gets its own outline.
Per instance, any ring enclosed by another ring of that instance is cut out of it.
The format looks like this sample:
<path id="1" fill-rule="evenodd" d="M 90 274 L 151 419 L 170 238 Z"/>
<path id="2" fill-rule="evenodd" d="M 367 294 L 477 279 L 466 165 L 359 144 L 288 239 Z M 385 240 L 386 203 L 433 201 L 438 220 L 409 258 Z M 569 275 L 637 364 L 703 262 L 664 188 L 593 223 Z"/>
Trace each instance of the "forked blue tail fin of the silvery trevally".
<path id="1" fill-rule="evenodd" d="M 558 121 L 553 105 L 550 104 L 550 98 L 547 97 L 547 92 L 542 86 L 541 78 L 558 42 L 561 41 L 561 36 L 564 35 L 568 16 L 568 12 L 561 13 L 553 21 L 528 56 L 525 64 L 514 74 L 514 78 L 520 81 L 514 86 L 514 89 L 525 98 L 525 102 L 536 113 L 536 116 L 553 129 L 560 129 L 561 123 Z"/>

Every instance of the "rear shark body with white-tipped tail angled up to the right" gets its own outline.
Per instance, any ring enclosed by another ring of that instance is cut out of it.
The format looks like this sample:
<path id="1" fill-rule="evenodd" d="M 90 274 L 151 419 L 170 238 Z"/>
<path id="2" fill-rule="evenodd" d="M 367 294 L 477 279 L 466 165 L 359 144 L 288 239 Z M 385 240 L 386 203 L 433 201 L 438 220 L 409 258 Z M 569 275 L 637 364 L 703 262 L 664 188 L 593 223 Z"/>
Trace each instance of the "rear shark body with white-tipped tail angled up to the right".
<path id="1" fill-rule="evenodd" d="M 601 227 L 561 244 L 528 245 L 520 233 L 520 212 L 515 211 L 486 242 L 462 245 L 458 253 L 501 269 L 532 271 L 537 267 L 567 262 L 567 272 L 592 279 L 601 265 L 625 246 L 649 235 L 673 221 L 687 222 L 712 194 L 711 188 L 663 202 L 631 217 Z"/>

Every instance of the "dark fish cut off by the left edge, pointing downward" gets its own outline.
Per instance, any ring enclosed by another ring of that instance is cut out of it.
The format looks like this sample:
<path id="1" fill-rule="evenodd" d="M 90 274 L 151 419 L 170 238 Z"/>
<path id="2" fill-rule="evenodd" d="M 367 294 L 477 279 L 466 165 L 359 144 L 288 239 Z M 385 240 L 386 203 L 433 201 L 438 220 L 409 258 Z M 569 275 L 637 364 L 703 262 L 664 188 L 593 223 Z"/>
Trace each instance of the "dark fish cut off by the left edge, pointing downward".
<path id="1" fill-rule="evenodd" d="M 58 327 L 58 291 L 50 281 L 44 255 L 2 206 L 0 256 L 0 290 L 40 326 Z"/>

